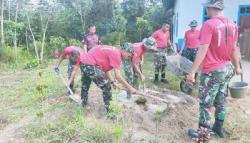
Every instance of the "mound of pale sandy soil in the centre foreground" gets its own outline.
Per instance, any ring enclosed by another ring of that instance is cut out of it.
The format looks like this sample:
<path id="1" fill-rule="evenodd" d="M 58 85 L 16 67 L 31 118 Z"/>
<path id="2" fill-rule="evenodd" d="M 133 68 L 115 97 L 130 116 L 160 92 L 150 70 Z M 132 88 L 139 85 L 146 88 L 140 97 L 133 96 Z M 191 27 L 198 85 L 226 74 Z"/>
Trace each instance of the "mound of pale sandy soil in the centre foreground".
<path id="1" fill-rule="evenodd" d="M 134 102 L 138 98 L 136 95 L 127 102 L 119 97 L 124 120 L 128 121 L 128 133 L 132 133 L 128 136 L 132 136 L 133 140 L 163 138 L 190 141 L 186 130 L 197 124 L 198 105 L 195 99 L 187 95 L 175 96 L 169 92 L 154 90 L 147 93 L 166 99 L 169 103 L 147 98 L 148 103 L 145 106 L 138 106 Z"/>

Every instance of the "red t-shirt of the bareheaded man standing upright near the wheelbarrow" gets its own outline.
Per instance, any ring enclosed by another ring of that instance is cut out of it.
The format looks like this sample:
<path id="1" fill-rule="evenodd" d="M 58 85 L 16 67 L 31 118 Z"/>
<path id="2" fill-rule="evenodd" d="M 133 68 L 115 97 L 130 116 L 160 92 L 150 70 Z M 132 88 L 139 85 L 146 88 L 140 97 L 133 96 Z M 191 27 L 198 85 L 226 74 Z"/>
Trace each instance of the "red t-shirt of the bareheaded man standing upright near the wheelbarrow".
<path id="1" fill-rule="evenodd" d="M 155 38 L 157 48 L 164 49 L 170 45 L 170 32 L 164 32 L 162 29 L 155 31 L 152 34 L 152 37 Z"/>

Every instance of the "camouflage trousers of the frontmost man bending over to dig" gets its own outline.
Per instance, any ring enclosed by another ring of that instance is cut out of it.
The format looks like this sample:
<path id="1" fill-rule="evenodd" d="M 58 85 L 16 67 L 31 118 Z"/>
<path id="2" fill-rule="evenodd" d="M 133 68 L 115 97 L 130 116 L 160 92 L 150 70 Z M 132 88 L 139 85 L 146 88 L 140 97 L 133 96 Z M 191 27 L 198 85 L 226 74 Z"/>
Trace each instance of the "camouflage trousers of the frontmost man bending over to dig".
<path id="1" fill-rule="evenodd" d="M 106 109 L 109 109 L 110 101 L 112 100 L 111 83 L 107 79 L 106 74 L 97 66 L 81 64 L 82 72 L 82 89 L 81 98 L 83 103 L 88 101 L 88 91 L 90 84 L 93 81 L 99 88 L 102 89 L 103 101 Z"/>

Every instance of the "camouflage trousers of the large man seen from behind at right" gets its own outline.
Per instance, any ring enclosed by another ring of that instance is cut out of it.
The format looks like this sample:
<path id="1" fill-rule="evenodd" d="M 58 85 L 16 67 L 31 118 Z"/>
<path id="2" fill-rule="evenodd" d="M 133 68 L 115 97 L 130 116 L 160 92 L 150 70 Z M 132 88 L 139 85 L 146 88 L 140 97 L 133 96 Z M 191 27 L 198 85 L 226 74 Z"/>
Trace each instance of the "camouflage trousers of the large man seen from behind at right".
<path id="1" fill-rule="evenodd" d="M 233 66 L 228 64 L 221 69 L 201 75 L 199 87 L 199 125 L 205 127 L 211 125 L 213 107 L 215 107 L 215 119 L 224 121 L 228 84 L 233 74 Z"/>

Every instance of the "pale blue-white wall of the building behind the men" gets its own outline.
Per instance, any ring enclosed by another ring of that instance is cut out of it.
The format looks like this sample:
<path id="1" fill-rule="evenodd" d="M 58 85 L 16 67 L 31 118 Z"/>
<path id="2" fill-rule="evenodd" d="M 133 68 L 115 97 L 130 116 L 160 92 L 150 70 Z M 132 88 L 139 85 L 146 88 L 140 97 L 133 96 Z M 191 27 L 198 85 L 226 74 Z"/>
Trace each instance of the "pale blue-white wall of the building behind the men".
<path id="1" fill-rule="evenodd" d="M 174 17 L 173 41 L 181 45 L 185 31 L 191 20 L 198 21 L 198 28 L 203 23 L 203 4 L 206 0 L 177 0 Z M 239 5 L 250 5 L 250 0 L 225 0 L 224 15 L 238 22 Z"/>

